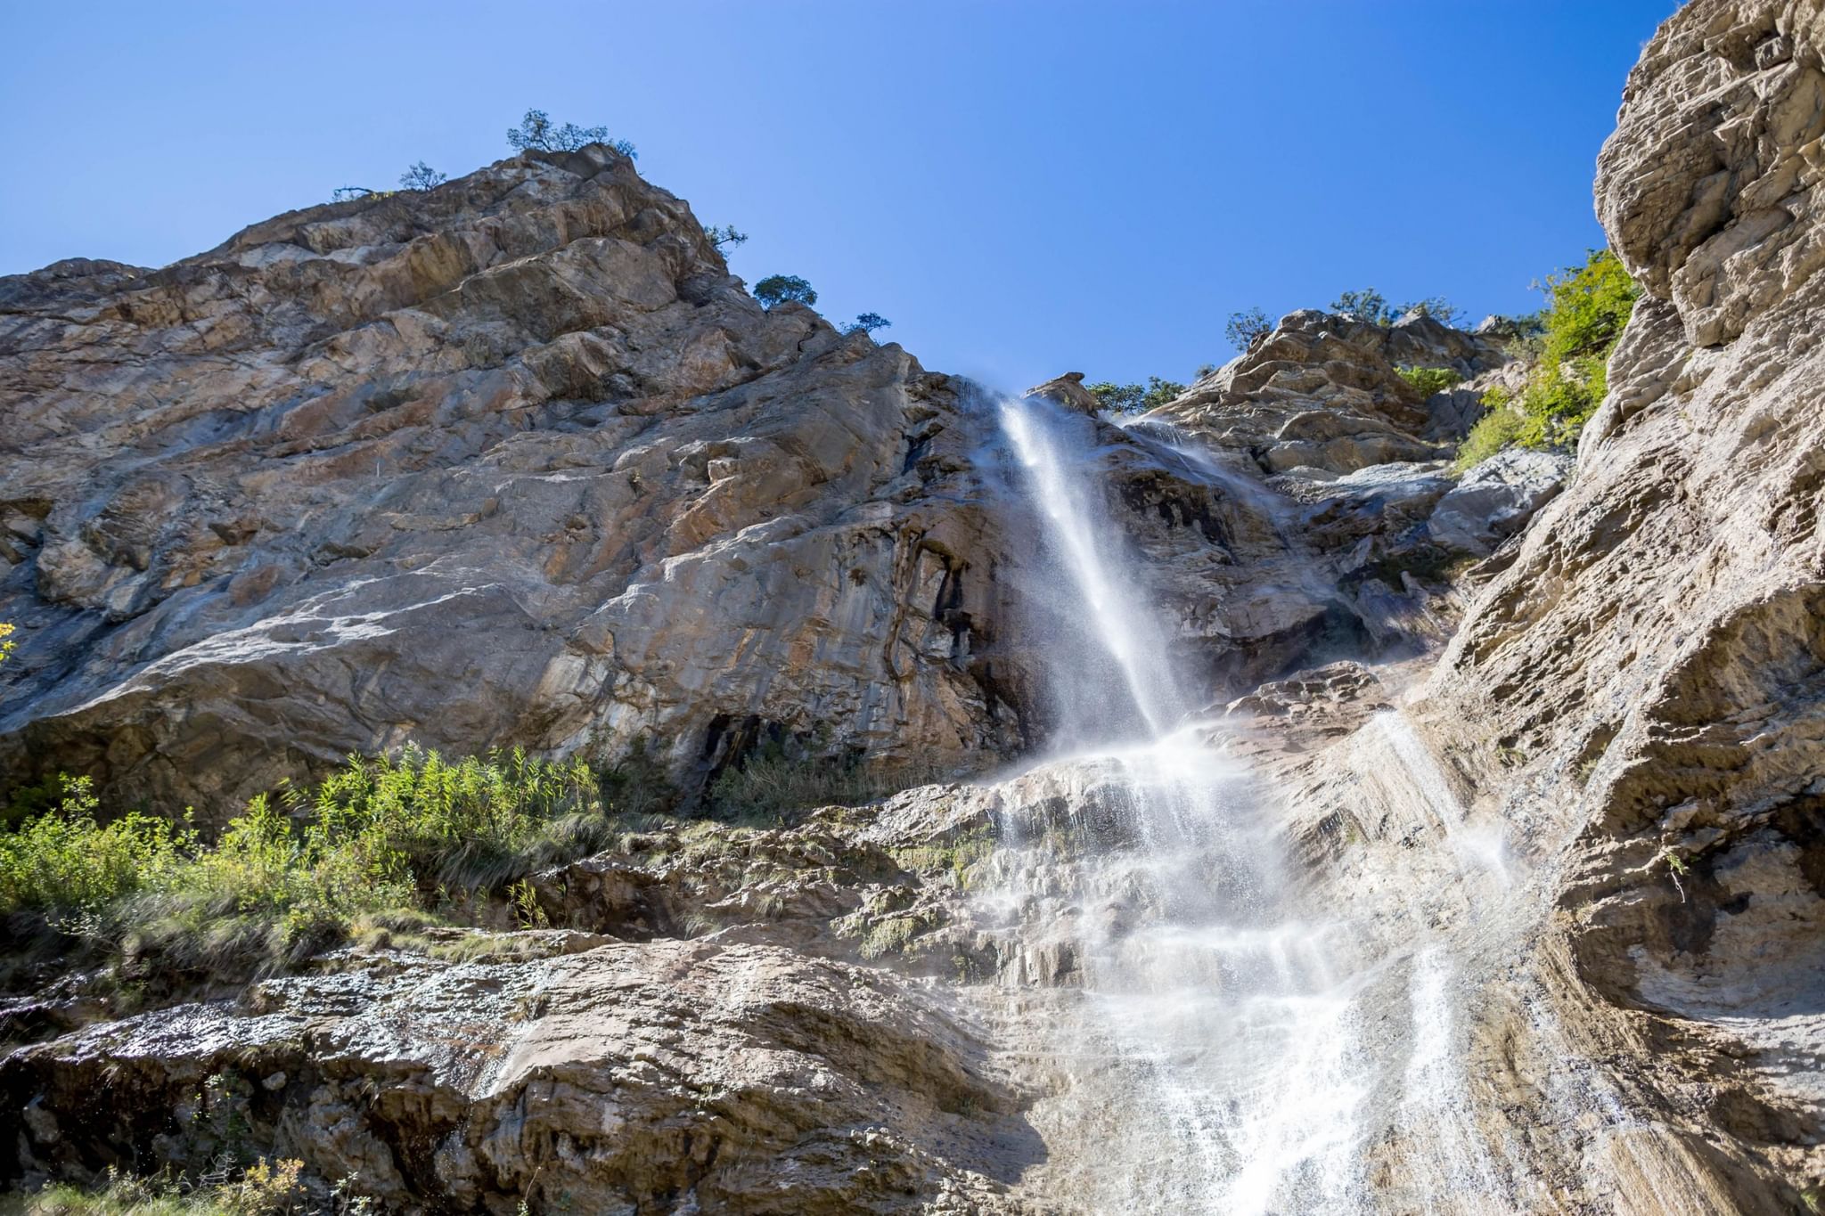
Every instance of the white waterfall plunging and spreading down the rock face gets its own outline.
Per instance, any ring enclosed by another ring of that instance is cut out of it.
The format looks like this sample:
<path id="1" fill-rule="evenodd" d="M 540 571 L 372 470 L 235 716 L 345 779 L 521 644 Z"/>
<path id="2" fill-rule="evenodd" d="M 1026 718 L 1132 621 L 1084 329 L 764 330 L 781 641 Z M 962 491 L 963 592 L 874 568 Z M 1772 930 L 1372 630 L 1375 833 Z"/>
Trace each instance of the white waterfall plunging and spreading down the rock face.
<path id="1" fill-rule="evenodd" d="M 1102 507 L 1097 423 L 998 408 L 1042 532 L 1029 598 L 1071 627 L 1046 647 L 1060 755 L 1004 782 L 980 897 L 1022 941 L 1004 975 L 1031 1052 L 1066 1076 L 1035 1123 L 1077 1149 L 1044 1189 L 1097 1212 L 1507 1211 L 1465 1116 L 1449 953 L 1424 933 L 1391 950 L 1301 893 L 1272 797 L 1186 713 Z M 1409 738 L 1383 735 L 1376 764 L 1403 768 Z M 1455 815 L 1434 771 L 1396 786 L 1414 813 Z M 1438 1141 L 1403 1174 L 1425 1194 L 1371 1180 L 1391 1134 Z"/>

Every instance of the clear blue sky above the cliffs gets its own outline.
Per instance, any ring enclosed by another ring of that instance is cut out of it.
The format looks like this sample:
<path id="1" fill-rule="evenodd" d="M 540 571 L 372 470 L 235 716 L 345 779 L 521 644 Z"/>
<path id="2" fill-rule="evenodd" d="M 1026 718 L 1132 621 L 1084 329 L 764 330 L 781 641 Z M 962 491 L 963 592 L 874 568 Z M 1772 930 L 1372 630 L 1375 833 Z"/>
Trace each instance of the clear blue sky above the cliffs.
<path id="1" fill-rule="evenodd" d="M 1672 9 L 11 0 L 0 273 L 164 264 L 418 159 L 454 177 L 538 106 L 752 233 L 735 273 L 885 314 L 929 368 L 1188 379 L 1248 304 L 1535 308 L 1602 242 L 1597 148 Z"/>

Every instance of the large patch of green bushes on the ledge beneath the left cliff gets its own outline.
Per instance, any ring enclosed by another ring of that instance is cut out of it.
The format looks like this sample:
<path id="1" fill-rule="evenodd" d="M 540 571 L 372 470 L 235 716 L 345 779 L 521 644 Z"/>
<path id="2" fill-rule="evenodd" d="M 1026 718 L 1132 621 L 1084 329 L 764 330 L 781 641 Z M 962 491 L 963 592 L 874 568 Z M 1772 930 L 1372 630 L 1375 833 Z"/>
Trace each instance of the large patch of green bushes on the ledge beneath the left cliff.
<path id="1" fill-rule="evenodd" d="M 88 778 L 0 833 L 0 917 L 179 968 L 263 966 L 389 910 L 473 919 L 537 868 L 611 835 L 586 764 L 524 751 L 352 757 L 314 789 L 265 795 L 210 844 L 184 822 L 97 819 Z"/>

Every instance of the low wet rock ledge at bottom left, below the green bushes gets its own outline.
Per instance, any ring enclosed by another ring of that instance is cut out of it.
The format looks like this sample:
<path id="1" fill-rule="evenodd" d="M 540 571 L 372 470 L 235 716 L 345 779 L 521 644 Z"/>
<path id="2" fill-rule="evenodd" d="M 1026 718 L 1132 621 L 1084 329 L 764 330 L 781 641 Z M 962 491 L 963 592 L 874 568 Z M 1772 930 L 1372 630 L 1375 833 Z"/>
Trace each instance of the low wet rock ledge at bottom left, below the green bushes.
<path id="1" fill-rule="evenodd" d="M 779 946 L 394 955 L 13 1054 L 0 1165 L 259 1143 L 389 1211 L 982 1212 L 1033 1138 L 980 1061 L 905 981 Z"/>

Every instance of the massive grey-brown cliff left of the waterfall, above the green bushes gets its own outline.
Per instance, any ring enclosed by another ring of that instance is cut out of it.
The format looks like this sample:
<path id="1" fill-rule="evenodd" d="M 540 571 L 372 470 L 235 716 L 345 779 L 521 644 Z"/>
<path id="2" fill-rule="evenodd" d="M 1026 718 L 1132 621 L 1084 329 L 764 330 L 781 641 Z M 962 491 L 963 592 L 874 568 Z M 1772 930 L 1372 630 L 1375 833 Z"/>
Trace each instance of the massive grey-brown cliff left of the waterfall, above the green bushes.
<path id="1" fill-rule="evenodd" d="M 215 808 L 409 737 L 995 755 L 958 392 L 761 310 L 604 148 L 0 281 L 0 771 Z"/>

